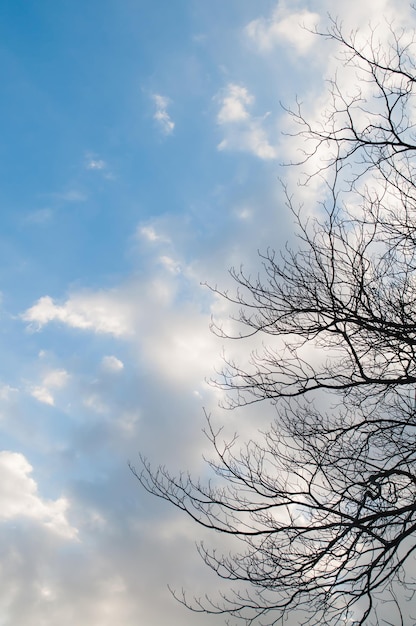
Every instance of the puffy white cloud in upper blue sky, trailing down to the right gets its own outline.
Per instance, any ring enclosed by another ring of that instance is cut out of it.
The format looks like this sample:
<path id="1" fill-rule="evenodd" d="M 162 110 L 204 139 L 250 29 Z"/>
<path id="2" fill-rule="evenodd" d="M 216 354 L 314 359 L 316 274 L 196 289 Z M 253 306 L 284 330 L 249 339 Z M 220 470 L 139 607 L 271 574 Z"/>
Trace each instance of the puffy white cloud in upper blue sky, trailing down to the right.
<path id="1" fill-rule="evenodd" d="M 251 115 L 248 107 L 254 103 L 254 96 L 248 89 L 229 83 L 217 99 L 220 102 L 217 123 L 225 134 L 218 150 L 239 150 L 262 160 L 275 159 L 276 148 L 270 143 L 264 128 L 268 114 L 261 118 Z"/>

